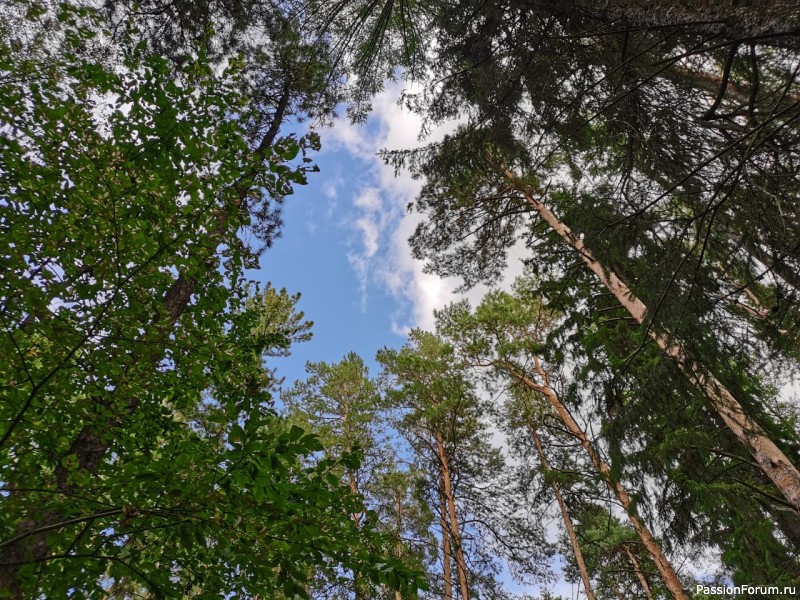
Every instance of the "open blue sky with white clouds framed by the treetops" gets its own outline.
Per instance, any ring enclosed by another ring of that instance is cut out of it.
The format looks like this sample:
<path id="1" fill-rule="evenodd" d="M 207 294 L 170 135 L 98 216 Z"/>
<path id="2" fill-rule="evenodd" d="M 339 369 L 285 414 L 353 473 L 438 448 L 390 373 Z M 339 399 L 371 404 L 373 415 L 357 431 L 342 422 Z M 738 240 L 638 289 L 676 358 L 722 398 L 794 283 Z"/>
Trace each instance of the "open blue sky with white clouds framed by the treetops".
<path id="1" fill-rule="evenodd" d="M 314 322 L 310 342 L 270 361 L 285 378 L 284 387 L 305 377 L 306 362 L 338 362 L 351 351 L 376 375 L 379 349 L 402 346 L 413 327 L 433 329 L 435 309 L 464 297 L 475 305 L 486 291 L 478 287 L 455 295 L 460 281 L 423 273 L 423 264 L 411 256 L 408 238 L 420 217 L 406 207 L 422 184 L 408 173 L 396 175 L 377 156 L 380 150 L 420 145 L 421 120 L 398 105 L 399 96 L 398 87 L 388 87 L 373 102 L 366 124 L 339 118 L 319 131 L 322 150 L 313 158 L 320 172 L 287 199 L 282 235 L 261 259 L 256 278 L 299 292 L 298 308 Z M 433 130 L 426 140 L 454 127 Z M 522 272 L 519 258 L 509 263 L 501 287 Z M 539 591 L 510 579 L 507 585 L 517 593 Z M 577 598 L 570 584 L 548 590 Z"/>

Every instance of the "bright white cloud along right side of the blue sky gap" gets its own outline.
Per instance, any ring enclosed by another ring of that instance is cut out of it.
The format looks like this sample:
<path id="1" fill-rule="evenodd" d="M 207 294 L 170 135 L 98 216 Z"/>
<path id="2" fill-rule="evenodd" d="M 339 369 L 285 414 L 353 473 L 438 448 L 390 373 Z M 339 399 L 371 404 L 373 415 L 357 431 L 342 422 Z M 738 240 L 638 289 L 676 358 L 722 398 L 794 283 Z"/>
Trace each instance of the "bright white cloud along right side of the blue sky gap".
<path id="1" fill-rule="evenodd" d="M 381 150 L 408 150 L 423 143 L 419 139 L 422 119 L 398 104 L 400 91 L 393 86 L 379 94 L 366 125 L 339 119 L 322 135 L 323 149 L 345 151 L 364 166 L 359 173 L 359 180 L 364 183 L 353 201 L 356 211 L 347 223 L 359 234 L 360 247 L 348 254 L 348 260 L 359 282 L 362 310 L 366 307 L 369 287 L 380 286 L 398 301 L 398 308 L 388 316 L 392 331 L 405 336 L 412 327 L 432 329 L 433 311 L 464 296 L 454 295 L 460 281 L 424 273 L 423 263 L 411 256 L 408 238 L 421 217 L 407 214 L 406 207 L 422 184 L 408 172 L 396 174 L 378 156 Z M 455 126 L 455 122 L 445 124 L 433 130 L 425 141 L 441 139 Z M 510 264 L 505 285 L 521 272 L 518 260 L 512 258 Z M 485 287 L 478 287 L 466 297 L 477 304 L 485 292 Z"/>

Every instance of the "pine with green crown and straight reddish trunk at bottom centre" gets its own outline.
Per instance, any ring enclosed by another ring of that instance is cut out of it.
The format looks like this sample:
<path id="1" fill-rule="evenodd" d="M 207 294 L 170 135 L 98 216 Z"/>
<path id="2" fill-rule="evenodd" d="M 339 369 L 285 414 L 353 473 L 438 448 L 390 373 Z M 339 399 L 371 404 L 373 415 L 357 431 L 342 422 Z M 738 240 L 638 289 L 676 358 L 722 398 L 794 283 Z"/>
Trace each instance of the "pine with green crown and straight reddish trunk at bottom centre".
<path id="1" fill-rule="evenodd" d="M 508 597 L 495 580 L 500 557 L 515 575 L 543 579 L 543 532 L 510 496 L 502 455 L 489 443 L 486 402 L 453 347 L 413 330 L 402 349 L 384 349 L 378 361 L 392 385 L 397 428 L 414 450 L 431 512 L 439 516 L 443 597 Z"/>

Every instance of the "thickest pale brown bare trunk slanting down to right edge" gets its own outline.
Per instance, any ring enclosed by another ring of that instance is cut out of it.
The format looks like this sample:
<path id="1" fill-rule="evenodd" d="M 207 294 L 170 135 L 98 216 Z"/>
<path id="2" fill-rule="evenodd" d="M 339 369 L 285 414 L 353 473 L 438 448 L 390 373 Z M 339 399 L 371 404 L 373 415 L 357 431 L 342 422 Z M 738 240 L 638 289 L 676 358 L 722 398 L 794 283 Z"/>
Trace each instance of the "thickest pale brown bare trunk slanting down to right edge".
<path id="1" fill-rule="evenodd" d="M 547 222 L 562 240 L 571 246 L 583 262 L 597 276 L 600 282 L 611 292 L 622 307 L 628 311 L 639 325 L 644 325 L 647 317 L 647 306 L 637 298 L 631 289 L 614 273 L 607 269 L 586 247 L 578 236 L 564 223 L 558 220 L 540 200 L 533 197 L 530 190 L 520 185 L 516 176 L 505 170 L 511 187 L 521 193 L 526 202 Z M 672 358 L 681 372 L 696 387 L 703 390 L 711 401 L 711 405 L 722 418 L 725 425 L 737 439 L 750 451 L 756 463 L 781 491 L 789 504 L 800 514 L 800 471 L 786 457 L 783 451 L 773 442 L 764 430 L 751 419 L 733 394 L 720 382 L 713 373 L 705 372 L 692 361 L 678 342 L 670 339 L 666 333 L 648 327 L 650 338 L 655 341 L 664 353 Z"/>

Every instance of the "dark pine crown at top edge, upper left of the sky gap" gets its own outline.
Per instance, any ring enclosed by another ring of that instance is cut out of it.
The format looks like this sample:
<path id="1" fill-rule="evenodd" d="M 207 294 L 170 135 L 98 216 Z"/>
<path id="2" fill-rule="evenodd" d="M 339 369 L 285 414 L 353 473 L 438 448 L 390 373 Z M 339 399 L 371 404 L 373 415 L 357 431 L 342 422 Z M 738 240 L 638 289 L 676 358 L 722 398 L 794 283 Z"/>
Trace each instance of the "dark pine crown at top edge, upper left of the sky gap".
<path id="1" fill-rule="evenodd" d="M 124 0 L 104 2 L 101 11 L 114 40 L 132 36 L 148 55 L 176 68 L 198 55 L 218 68 L 238 63 L 237 89 L 252 109 L 247 130 L 254 147 L 290 117 L 327 121 L 344 99 L 328 44 L 306 34 L 297 2 Z"/>

